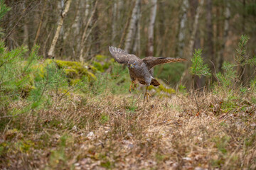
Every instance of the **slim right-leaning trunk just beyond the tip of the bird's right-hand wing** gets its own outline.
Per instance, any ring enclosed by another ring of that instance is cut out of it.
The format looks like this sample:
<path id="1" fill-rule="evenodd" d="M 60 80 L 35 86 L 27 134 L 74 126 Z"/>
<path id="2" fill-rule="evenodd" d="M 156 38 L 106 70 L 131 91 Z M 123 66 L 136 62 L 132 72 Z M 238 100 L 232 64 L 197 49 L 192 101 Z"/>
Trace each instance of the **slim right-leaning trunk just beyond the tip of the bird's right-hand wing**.
<path id="1" fill-rule="evenodd" d="M 198 29 L 198 21 L 199 21 L 199 16 L 202 11 L 203 2 L 204 2 L 204 0 L 201 0 L 198 4 L 198 8 L 196 9 L 196 16 L 195 16 L 195 20 L 193 22 L 193 30 L 192 30 L 191 38 L 190 38 L 189 45 L 188 45 L 188 57 L 192 57 L 192 55 L 193 55 L 193 45 L 195 44 L 196 31 Z"/>

